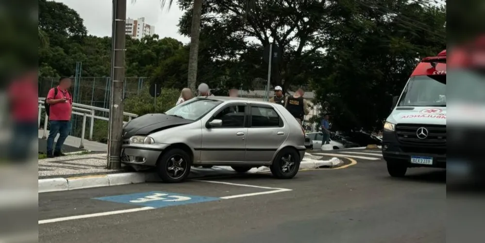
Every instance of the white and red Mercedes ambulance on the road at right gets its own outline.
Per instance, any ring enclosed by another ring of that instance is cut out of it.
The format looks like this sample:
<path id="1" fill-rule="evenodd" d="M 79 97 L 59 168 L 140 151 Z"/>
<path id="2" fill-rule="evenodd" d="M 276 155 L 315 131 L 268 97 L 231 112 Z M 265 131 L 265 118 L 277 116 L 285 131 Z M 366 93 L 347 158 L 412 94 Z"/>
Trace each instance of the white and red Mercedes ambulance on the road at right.
<path id="1" fill-rule="evenodd" d="M 421 60 L 394 97 L 382 139 L 391 176 L 410 167 L 446 168 L 446 50 Z"/>

